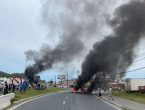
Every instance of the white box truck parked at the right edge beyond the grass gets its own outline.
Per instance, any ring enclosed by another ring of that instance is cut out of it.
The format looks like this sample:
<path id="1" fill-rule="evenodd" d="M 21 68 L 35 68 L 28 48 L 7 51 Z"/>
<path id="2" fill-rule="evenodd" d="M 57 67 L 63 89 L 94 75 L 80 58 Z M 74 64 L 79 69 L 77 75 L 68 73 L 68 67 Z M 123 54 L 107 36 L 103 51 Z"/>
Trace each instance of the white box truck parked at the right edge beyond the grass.
<path id="1" fill-rule="evenodd" d="M 139 91 L 141 86 L 145 86 L 145 78 L 125 79 L 125 90 L 128 92 Z"/>

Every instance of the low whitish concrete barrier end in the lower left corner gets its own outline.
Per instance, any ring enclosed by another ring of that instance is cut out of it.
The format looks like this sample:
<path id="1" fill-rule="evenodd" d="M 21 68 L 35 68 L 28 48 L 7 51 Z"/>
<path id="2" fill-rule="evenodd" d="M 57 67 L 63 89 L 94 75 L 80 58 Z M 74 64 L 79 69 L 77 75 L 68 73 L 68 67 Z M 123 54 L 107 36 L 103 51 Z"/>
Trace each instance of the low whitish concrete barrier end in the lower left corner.
<path id="1" fill-rule="evenodd" d="M 15 97 L 14 93 L 0 96 L 0 110 L 11 105 L 11 99 Z"/>

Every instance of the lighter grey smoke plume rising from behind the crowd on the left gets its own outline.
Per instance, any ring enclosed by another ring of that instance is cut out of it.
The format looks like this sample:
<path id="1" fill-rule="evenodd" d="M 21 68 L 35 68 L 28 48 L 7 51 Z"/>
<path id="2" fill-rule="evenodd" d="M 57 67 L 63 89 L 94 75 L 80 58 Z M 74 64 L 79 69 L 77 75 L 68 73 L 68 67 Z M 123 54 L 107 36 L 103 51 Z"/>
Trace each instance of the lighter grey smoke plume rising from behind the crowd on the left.
<path id="1" fill-rule="evenodd" d="M 53 33 L 59 36 L 59 43 L 54 48 L 45 44 L 40 51 L 27 51 L 26 56 L 34 64 L 26 68 L 26 76 L 33 80 L 35 74 L 52 68 L 55 63 L 68 63 L 85 56 L 87 52 L 85 55 L 82 52 L 91 44 L 90 39 L 97 39 L 101 28 L 105 26 L 106 16 L 112 8 L 108 3 L 112 1 L 46 0 L 43 5 L 43 22 L 48 27 L 48 35 Z"/>

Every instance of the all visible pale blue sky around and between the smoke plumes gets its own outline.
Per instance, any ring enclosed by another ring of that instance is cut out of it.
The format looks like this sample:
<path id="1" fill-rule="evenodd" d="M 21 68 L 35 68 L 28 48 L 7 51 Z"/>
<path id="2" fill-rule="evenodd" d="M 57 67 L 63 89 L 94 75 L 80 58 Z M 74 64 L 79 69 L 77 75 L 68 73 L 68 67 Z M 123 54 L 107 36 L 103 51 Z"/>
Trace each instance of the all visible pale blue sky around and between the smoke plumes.
<path id="1" fill-rule="evenodd" d="M 49 42 L 50 45 L 57 43 L 57 36 L 47 37 L 48 28 L 42 23 L 41 13 L 42 0 L 0 0 L 0 71 L 22 73 L 26 67 L 25 51 L 39 50 L 43 43 Z M 145 40 L 140 42 L 136 54 L 145 52 L 144 43 Z M 145 53 L 138 56 L 136 60 L 144 56 Z M 31 62 L 27 62 L 27 65 L 29 64 Z M 143 66 L 145 66 L 145 59 L 134 63 L 128 71 Z M 43 72 L 40 74 L 41 78 L 54 80 L 56 74 L 63 72 L 60 71 L 60 67 L 58 68 Z M 67 72 L 70 78 L 80 74 L 75 67 Z M 125 78 L 145 78 L 144 73 L 145 70 L 129 72 Z"/>

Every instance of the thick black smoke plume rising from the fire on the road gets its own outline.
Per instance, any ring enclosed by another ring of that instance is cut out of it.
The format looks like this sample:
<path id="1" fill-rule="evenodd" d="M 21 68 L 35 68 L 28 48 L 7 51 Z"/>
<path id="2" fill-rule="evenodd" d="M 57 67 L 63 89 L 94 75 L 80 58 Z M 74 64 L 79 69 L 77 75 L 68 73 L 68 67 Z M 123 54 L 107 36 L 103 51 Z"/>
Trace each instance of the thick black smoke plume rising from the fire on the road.
<path id="1" fill-rule="evenodd" d="M 100 72 L 102 75 L 109 74 L 111 79 L 117 74 L 124 76 L 133 62 L 135 46 L 145 37 L 145 2 L 132 1 L 120 6 L 109 23 L 113 33 L 96 42 L 86 56 L 76 89 L 82 88 L 94 75 L 100 81 Z M 100 83 L 103 82 L 104 79 Z"/>

